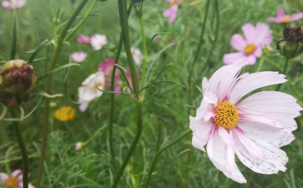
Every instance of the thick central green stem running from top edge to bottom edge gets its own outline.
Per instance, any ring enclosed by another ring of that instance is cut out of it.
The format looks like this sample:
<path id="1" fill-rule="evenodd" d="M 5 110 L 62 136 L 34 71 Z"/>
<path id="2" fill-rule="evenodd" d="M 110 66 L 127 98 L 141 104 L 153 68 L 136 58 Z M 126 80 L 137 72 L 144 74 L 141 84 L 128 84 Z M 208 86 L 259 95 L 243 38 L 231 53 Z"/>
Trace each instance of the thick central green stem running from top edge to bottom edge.
<path id="1" fill-rule="evenodd" d="M 143 125 L 142 100 L 140 99 L 140 96 L 138 93 L 139 85 L 138 85 L 138 81 L 137 81 L 137 74 L 136 74 L 136 70 L 135 70 L 135 64 L 134 64 L 134 60 L 132 57 L 132 53 L 130 50 L 131 45 L 130 45 L 130 38 L 129 38 L 129 26 L 128 26 L 128 18 L 127 18 L 126 1 L 118 0 L 118 6 L 119 6 L 121 29 L 122 29 L 122 33 L 123 33 L 124 47 L 125 47 L 125 51 L 126 51 L 126 55 L 127 55 L 127 59 L 128 59 L 129 68 L 131 71 L 133 90 L 134 90 L 135 102 L 136 102 L 136 107 L 137 107 L 137 132 L 136 132 L 135 138 L 128 150 L 128 153 L 119 169 L 119 172 L 114 180 L 114 183 L 112 186 L 113 188 L 117 187 L 118 182 L 121 178 L 121 175 L 136 148 L 136 145 L 137 145 L 137 143 L 140 139 L 141 133 L 142 133 L 142 125 Z"/>

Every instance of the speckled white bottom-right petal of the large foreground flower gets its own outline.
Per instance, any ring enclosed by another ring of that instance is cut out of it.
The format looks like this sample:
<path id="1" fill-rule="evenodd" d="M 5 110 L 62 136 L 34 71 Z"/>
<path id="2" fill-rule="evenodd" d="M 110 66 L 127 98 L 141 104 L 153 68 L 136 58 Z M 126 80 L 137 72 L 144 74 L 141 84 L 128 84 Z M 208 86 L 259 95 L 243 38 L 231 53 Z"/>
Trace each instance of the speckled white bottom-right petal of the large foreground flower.
<path id="1" fill-rule="evenodd" d="M 257 160 L 251 157 L 239 139 L 235 139 L 236 155 L 245 166 L 263 174 L 272 174 L 277 173 L 279 170 L 286 170 L 285 163 L 288 161 L 288 157 L 283 150 L 269 143 L 262 142 L 262 140 L 253 142 L 262 152 L 262 159 Z"/>

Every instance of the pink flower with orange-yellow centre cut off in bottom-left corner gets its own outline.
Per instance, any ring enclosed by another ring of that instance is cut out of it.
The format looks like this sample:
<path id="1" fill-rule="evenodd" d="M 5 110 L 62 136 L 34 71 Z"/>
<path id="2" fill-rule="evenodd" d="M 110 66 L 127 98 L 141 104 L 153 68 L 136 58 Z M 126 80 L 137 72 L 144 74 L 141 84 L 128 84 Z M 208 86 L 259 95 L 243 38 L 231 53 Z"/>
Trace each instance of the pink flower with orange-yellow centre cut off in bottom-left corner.
<path id="1" fill-rule="evenodd" d="M 30 174 L 29 174 L 30 176 Z M 14 188 L 22 188 L 23 182 L 22 182 L 22 170 L 17 169 L 13 171 L 11 175 L 8 175 L 6 173 L 0 173 L 0 184 L 3 184 L 5 188 L 14 187 Z M 29 184 L 29 188 L 35 188 L 34 185 Z"/>

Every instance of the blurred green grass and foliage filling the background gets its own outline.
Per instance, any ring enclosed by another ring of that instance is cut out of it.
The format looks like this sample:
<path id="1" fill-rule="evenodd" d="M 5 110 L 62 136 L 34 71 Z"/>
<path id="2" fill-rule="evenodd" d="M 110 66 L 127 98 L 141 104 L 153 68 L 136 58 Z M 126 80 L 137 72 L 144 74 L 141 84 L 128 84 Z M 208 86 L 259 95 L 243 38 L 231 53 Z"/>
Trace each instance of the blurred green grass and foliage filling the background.
<path id="1" fill-rule="evenodd" d="M 64 12 L 62 22 L 65 22 L 76 9 L 80 1 L 58 0 L 28 0 L 26 6 L 18 10 L 18 53 L 19 59 L 28 60 L 30 55 L 23 51 L 35 49 L 43 40 L 53 38 L 53 18 L 61 8 Z M 152 81 L 160 71 L 168 64 L 172 64 L 164 74 L 162 80 L 173 80 L 187 86 L 188 77 L 194 78 L 193 85 L 200 87 L 202 77 L 209 77 L 223 65 L 222 57 L 225 53 L 232 52 L 230 46 L 231 36 L 241 33 L 241 26 L 246 23 L 266 23 L 266 19 L 274 17 L 278 8 L 283 8 L 286 13 L 293 14 L 303 11 L 301 1 L 222 1 L 219 0 L 219 33 L 215 48 L 211 52 L 211 46 L 215 36 L 214 1 L 211 1 L 209 15 L 206 23 L 206 31 L 202 44 L 200 58 L 192 75 L 189 70 L 192 65 L 196 46 L 199 42 L 199 34 L 205 11 L 205 0 L 185 1 L 179 6 L 178 15 L 173 25 L 168 25 L 168 19 L 163 18 L 162 13 L 169 7 L 163 0 L 145 1 L 143 21 L 146 30 L 148 57 L 147 66 L 155 60 L 149 81 Z M 89 1 L 88 4 L 92 4 Z M 83 16 L 89 5 L 80 14 Z M 80 67 L 73 67 L 68 77 L 68 97 L 52 100 L 51 133 L 47 150 L 47 160 L 42 187 L 109 187 L 116 174 L 115 167 L 110 162 L 108 129 L 100 132 L 82 150 L 75 151 L 75 143 L 86 141 L 102 126 L 107 126 L 109 121 L 110 96 L 103 94 L 94 100 L 87 111 L 81 113 L 78 105 L 72 103 L 69 98 L 77 100 L 77 89 L 82 81 L 90 74 L 98 70 L 98 64 L 104 58 L 114 58 L 120 36 L 120 22 L 118 17 L 117 1 L 99 2 L 91 16 L 77 35 L 65 45 L 64 51 L 58 61 L 58 65 L 68 62 L 72 52 L 84 51 L 88 58 Z M 142 51 L 142 36 L 138 17 L 134 12 L 130 15 L 130 34 L 132 45 Z M 78 21 L 79 22 L 79 21 Z M 76 20 L 77 23 L 77 20 Z M 301 24 L 300 21 L 291 23 L 293 26 Z M 13 12 L 0 9 L 0 61 L 7 61 L 10 57 L 12 40 Z M 283 25 L 270 23 L 273 31 L 273 52 L 264 59 L 262 70 L 279 71 L 283 67 L 284 59 L 275 51 L 275 43 L 282 38 Z M 62 29 L 62 28 L 61 28 Z M 93 51 L 90 47 L 78 44 L 77 36 L 105 34 L 108 45 L 102 50 Z M 157 33 L 171 33 L 161 35 L 157 41 L 151 38 Z M 170 45 L 175 43 L 177 45 Z M 157 54 L 168 47 L 158 57 Z M 40 54 L 45 59 L 35 62 L 37 75 L 45 72 L 48 66 L 53 46 L 46 47 Z M 210 58 L 208 59 L 208 56 Z M 127 61 L 123 52 L 120 62 L 127 67 Z M 209 62 L 207 62 L 209 61 Z M 258 60 L 259 61 L 259 60 Z M 204 65 L 208 68 L 204 70 Z M 242 72 L 254 72 L 258 62 L 246 67 Z M 282 86 L 281 91 L 300 97 L 303 94 L 303 64 L 302 56 L 290 63 L 289 77 L 291 84 L 298 91 L 294 93 L 289 83 Z M 140 71 L 140 69 L 138 69 Z M 53 79 L 53 93 L 65 93 L 64 71 L 56 74 Z M 40 83 L 35 89 L 44 90 L 45 83 Z M 267 87 L 273 90 L 275 87 Z M 193 106 L 198 107 L 202 96 L 196 87 L 192 88 Z M 30 111 L 37 101 L 31 101 L 24 107 Z M 42 103 L 43 104 L 43 103 Z M 151 161 L 157 148 L 159 127 L 160 147 L 166 145 L 175 137 L 188 130 L 188 116 L 195 114 L 188 104 L 187 90 L 179 85 L 171 83 L 158 84 L 146 90 L 144 101 L 144 127 L 139 144 L 132 156 L 124 177 L 121 179 L 121 187 L 141 187 L 146 179 Z M 74 121 L 59 122 L 54 118 L 54 111 L 64 105 L 70 105 L 77 109 Z M 131 97 L 119 95 L 115 99 L 114 119 L 114 148 L 118 155 L 119 163 L 125 157 L 136 131 L 135 105 Z M 43 131 L 43 107 L 27 120 L 22 122 L 22 129 L 30 154 L 31 182 L 35 182 L 37 166 L 39 163 L 39 148 Z M 191 136 L 188 136 L 163 152 L 158 160 L 152 176 L 151 187 L 303 187 L 303 118 L 296 119 L 298 129 L 293 133 L 296 139 L 282 149 L 286 151 L 289 161 L 286 164 L 286 172 L 278 174 L 258 174 L 239 161 L 237 164 L 247 179 L 246 184 L 238 184 L 224 176 L 216 169 L 203 153 L 191 145 Z M 8 166 L 14 170 L 21 167 L 20 151 L 16 141 L 13 127 L 9 122 L 0 122 L 0 171 L 6 171 Z"/>

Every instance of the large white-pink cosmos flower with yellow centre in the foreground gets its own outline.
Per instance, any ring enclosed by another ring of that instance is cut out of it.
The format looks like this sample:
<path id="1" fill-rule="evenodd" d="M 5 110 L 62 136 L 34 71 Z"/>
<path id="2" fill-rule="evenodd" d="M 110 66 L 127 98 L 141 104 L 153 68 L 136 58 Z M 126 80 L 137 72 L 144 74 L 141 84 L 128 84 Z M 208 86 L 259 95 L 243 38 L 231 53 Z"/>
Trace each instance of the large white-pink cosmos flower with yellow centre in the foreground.
<path id="1" fill-rule="evenodd" d="M 279 147 L 289 144 L 297 128 L 293 118 L 302 108 L 296 100 L 278 91 L 253 90 L 286 82 L 278 72 L 244 73 L 244 64 L 218 69 L 202 80 L 203 100 L 196 117 L 189 117 L 192 145 L 227 177 L 239 183 L 246 179 L 235 163 L 235 155 L 251 170 L 272 174 L 285 171 L 286 153 Z M 244 99 L 242 99 L 244 98 Z"/>

